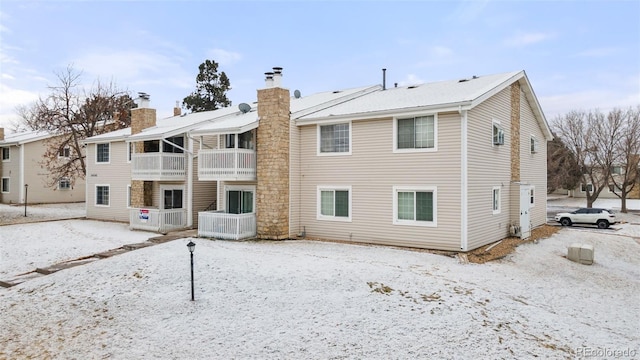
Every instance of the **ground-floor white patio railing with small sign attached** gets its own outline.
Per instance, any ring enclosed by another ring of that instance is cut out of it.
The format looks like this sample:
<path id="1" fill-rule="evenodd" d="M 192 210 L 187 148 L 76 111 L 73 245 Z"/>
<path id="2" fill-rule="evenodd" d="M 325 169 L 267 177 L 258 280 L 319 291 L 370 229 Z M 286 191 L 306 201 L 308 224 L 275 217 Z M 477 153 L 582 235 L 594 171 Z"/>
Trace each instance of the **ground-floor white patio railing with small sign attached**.
<path id="1" fill-rule="evenodd" d="M 129 228 L 167 233 L 187 227 L 186 209 L 139 208 L 129 210 Z"/>

